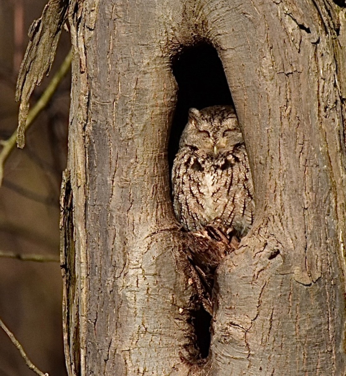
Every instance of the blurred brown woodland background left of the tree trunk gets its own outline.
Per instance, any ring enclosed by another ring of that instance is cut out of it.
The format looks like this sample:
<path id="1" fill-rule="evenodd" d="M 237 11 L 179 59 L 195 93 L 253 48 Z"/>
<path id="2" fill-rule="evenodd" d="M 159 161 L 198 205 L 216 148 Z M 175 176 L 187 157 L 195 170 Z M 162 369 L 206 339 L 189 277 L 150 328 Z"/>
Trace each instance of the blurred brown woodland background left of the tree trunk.
<path id="1" fill-rule="evenodd" d="M 15 82 L 33 20 L 47 0 L 0 0 L 0 139 L 17 127 Z M 62 31 L 52 72 L 37 87 L 30 107 L 44 91 L 70 49 Z M 66 164 L 70 73 L 26 134 L 23 150 L 5 164 L 0 188 L 0 251 L 59 255 L 59 192 Z M 1 147 L 0 147 L 1 150 Z M 33 364 L 50 376 L 65 376 L 62 341 L 62 280 L 59 263 L 0 258 L 0 318 Z M 34 375 L 0 329 L 0 375 Z"/>

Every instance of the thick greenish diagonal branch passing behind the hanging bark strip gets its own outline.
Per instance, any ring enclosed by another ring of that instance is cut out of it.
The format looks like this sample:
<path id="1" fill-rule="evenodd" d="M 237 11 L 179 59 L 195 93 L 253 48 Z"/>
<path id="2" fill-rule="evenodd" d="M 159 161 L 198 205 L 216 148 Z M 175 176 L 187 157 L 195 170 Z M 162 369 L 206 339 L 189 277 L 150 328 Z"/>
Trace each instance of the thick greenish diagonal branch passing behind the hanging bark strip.
<path id="1" fill-rule="evenodd" d="M 42 109 L 46 107 L 47 103 L 52 98 L 53 94 L 56 91 L 56 88 L 59 86 L 59 83 L 65 77 L 66 73 L 68 72 L 68 69 L 70 68 L 71 59 L 72 59 L 72 50 L 70 50 L 70 52 L 65 57 L 64 62 L 61 64 L 59 70 L 55 73 L 52 80 L 49 82 L 49 85 L 47 86 L 46 90 L 43 92 L 40 99 L 36 102 L 35 106 L 33 106 L 33 108 L 29 111 L 29 114 L 27 116 L 26 123 L 25 123 L 25 130 L 27 130 L 30 127 L 30 125 L 36 119 L 38 114 L 42 111 Z M 10 153 L 12 152 L 12 150 L 14 149 L 16 139 L 17 139 L 17 130 L 7 140 L 0 141 L 0 144 L 3 146 L 3 149 L 0 152 L 0 186 L 2 184 L 5 162 L 7 158 L 9 157 Z"/>

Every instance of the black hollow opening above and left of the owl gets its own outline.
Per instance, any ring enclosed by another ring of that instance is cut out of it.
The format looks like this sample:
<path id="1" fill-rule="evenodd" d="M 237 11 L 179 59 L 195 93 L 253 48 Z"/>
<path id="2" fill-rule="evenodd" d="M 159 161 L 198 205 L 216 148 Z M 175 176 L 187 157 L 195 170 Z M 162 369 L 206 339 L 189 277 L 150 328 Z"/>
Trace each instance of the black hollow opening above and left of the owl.
<path id="1" fill-rule="evenodd" d="M 222 62 L 212 45 L 203 43 L 186 47 L 173 59 L 172 70 L 179 90 L 168 146 L 170 170 L 187 123 L 188 109 L 233 105 Z"/>

